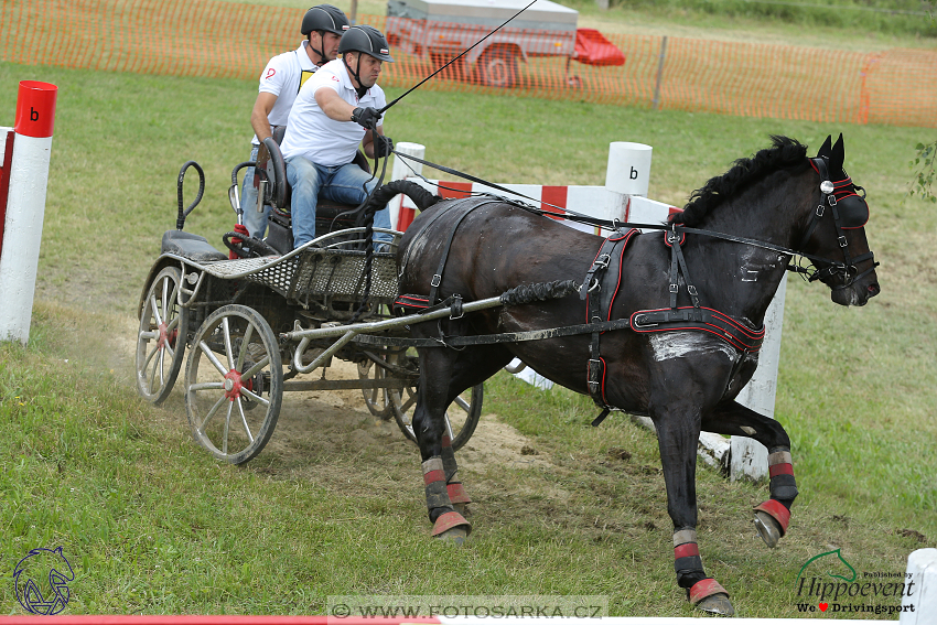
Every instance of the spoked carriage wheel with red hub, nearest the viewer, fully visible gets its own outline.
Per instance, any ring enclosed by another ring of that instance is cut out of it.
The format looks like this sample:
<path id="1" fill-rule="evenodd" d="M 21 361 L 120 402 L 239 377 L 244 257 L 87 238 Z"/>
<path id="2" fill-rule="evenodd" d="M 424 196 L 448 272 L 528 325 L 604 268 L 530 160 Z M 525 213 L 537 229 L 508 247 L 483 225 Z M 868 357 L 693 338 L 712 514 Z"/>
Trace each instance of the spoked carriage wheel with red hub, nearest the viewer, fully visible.
<path id="1" fill-rule="evenodd" d="M 283 366 L 270 325 L 238 304 L 212 313 L 195 333 L 185 370 L 195 440 L 215 457 L 244 464 L 270 440 L 282 399 Z"/>

